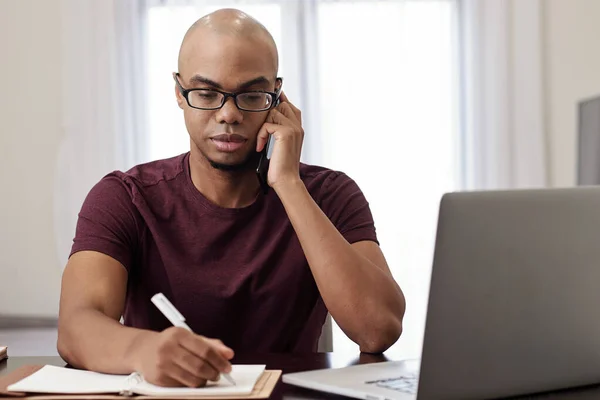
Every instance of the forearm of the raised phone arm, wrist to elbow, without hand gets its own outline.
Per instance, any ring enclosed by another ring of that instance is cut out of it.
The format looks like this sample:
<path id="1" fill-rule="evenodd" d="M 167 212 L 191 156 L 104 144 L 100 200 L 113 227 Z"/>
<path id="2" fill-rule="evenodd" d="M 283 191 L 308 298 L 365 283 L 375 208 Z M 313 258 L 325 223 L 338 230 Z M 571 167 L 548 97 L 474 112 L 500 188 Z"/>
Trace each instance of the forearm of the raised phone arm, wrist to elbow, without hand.
<path id="1" fill-rule="evenodd" d="M 404 314 L 392 276 L 344 239 L 301 181 L 279 187 L 278 195 L 336 322 L 361 350 L 387 349 L 401 333 Z"/>

